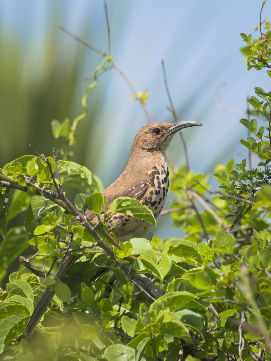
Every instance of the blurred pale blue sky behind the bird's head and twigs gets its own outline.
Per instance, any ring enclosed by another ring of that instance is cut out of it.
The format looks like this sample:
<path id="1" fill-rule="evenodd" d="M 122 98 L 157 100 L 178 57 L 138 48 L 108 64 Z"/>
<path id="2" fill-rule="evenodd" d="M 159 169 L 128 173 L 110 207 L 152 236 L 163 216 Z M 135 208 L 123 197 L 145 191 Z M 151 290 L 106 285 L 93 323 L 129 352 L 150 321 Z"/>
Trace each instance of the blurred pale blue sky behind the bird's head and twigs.
<path id="1" fill-rule="evenodd" d="M 239 145 L 239 139 L 246 137 L 246 129 L 239 123 L 244 115 L 219 110 L 214 95 L 219 84 L 226 83 L 219 91 L 220 104 L 225 108 L 246 109 L 246 97 L 254 95 L 255 86 L 270 90 L 266 72 L 248 72 L 239 51 L 245 45 L 239 33 L 253 33 L 259 22 L 261 4 L 259 0 L 108 1 L 112 56 L 136 90 L 148 89 L 147 109 L 152 119 L 172 121 L 165 108 L 168 99 L 163 84 L 163 59 L 179 120 L 203 123 L 201 128 L 184 132 L 195 172 L 212 173 L 215 164 L 225 163 L 232 156 L 240 160 L 246 155 L 245 148 Z M 270 10 L 270 1 L 267 1 L 263 19 L 270 16 Z M 17 39 L 22 76 L 29 77 L 33 84 L 46 77 L 44 58 L 49 56 L 46 54 L 49 34 L 53 34 L 57 43 L 53 54 L 57 61 L 74 61 L 78 56 L 78 44 L 60 31 L 59 25 L 90 44 L 107 49 L 101 0 L 0 2 L 2 37 L 6 42 L 10 36 Z M 83 45 L 79 49 L 81 47 Z M 91 75 L 100 62 L 100 56 L 90 56 L 90 51 L 84 53 L 74 91 L 73 105 L 77 109 L 87 85 L 81 81 Z M 115 70 L 99 79 L 99 89 L 91 93 L 88 105 L 91 111 L 93 102 L 102 97 L 102 106 L 86 144 L 84 165 L 91 163 L 91 157 L 100 147 L 99 162 L 92 171 L 107 187 L 125 168 L 133 137 L 146 123 L 146 117 L 140 106 L 129 100 L 130 90 Z M 118 140 L 113 147 L 112 138 Z M 169 147 L 169 154 L 178 166 L 184 163 L 177 137 Z"/>

